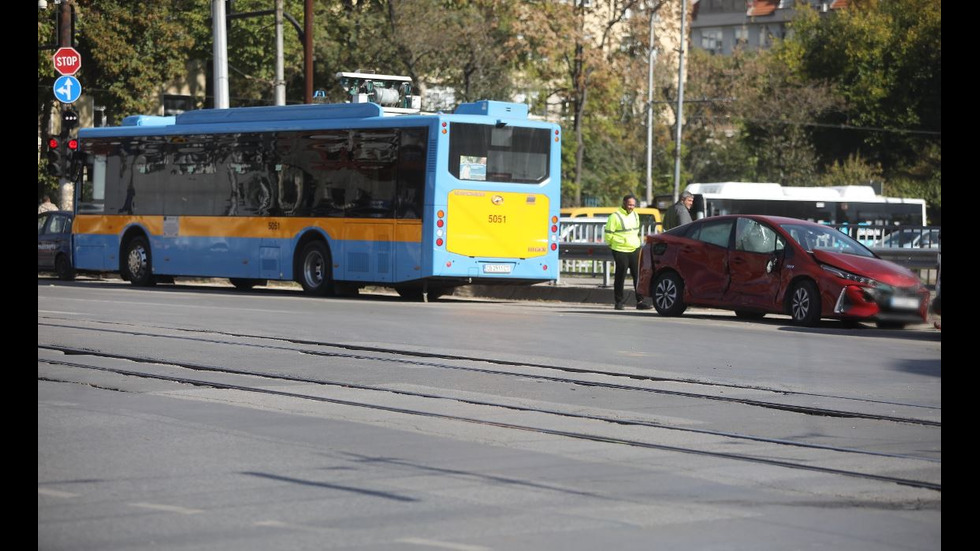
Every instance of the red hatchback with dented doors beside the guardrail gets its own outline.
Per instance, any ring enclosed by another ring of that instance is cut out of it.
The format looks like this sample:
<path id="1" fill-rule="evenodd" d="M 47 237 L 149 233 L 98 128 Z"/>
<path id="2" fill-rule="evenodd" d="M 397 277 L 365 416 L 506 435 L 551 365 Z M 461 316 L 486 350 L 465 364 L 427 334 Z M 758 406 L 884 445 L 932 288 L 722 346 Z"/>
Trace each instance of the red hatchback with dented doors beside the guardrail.
<path id="1" fill-rule="evenodd" d="M 902 328 L 926 319 L 929 291 L 911 270 L 882 260 L 836 229 L 777 216 L 715 216 L 647 237 L 638 289 L 657 312 L 688 306 L 740 318 L 787 314 Z"/>

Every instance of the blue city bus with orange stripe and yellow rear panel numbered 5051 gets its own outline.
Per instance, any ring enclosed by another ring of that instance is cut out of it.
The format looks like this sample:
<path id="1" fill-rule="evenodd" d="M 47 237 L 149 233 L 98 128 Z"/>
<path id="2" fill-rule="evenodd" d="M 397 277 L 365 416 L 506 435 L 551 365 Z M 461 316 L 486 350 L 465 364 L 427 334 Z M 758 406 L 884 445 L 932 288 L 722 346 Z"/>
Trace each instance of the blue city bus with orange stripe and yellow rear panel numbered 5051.
<path id="1" fill-rule="evenodd" d="M 558 277 L 561 130 L 522 104 L 134 116 L 79 131 L 76 268 L 314 295 Z"/>

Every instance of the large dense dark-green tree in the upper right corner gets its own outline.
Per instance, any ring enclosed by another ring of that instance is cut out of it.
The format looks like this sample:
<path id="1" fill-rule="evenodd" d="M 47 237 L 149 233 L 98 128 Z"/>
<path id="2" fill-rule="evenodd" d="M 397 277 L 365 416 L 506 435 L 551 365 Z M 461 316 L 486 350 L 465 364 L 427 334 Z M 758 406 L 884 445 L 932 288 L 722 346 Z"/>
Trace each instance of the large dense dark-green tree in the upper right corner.
<path id="1" fill-rule="evenodd" d="M 941 158 L 940 1 L 852 0 L 829 17 L 803 10 L 792 28 L 802 74 L 846 101 L 816 133 L 824 160 L 860 154 L 887 178 L 941 185 L 921 170 Z"/>

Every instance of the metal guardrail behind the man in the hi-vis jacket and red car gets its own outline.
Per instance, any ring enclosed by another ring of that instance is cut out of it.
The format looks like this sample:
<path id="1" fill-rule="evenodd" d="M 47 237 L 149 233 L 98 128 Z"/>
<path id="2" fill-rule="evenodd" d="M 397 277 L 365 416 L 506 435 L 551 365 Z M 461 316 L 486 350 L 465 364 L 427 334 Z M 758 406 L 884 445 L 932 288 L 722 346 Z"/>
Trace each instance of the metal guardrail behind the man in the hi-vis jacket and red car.
<path id="1" fill-rule="evenodd" d="M 558 243 L 558 258 L 561 260 L 561 274 L 565 276 L 586 276 L 601 277 L 603 286 L 609 285 L 612 274 L 612 255 L 609 247 L 602 239 L 602 229 L 605 226 L 604 220 L 562 220 L 561 235 L 564 239 Z M 902 226 L 852 226 L 847 230 L 861 230 L 878 234 L 878 242 L 882 237 L 887 237 L 884 229 L 891 232 L 908 231 L 921 232 L 926 235 L 935 231 L 937 228 L 917 226 L 914 228 Z M 651 228 L 644 228 L 643 235 L 650 233 Z M 881 233 L 878 233 L 878 231 Z M 851 231 L 845 233 L 850 234 Z M 853 236 L 852 236 L 853 237 Z M 919 274 L 920 279 L 926 285 L 934 285 L 938 275 L 940 247 L 928 248 L 909 248 L 909 247 L 870 247 L 879 257 L 905 266 L 906 268 Z"/>

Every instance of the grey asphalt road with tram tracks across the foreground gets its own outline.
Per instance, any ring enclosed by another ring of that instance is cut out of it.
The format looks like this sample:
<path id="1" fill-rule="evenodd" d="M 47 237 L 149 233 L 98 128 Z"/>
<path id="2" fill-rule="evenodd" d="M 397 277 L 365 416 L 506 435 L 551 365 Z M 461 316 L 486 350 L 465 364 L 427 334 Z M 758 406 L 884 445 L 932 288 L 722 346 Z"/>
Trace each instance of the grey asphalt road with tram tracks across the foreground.
<path id="1" fill-rule="evenodd" d="M 941 334 L 38 279 L 38 549 L 935 549 Z"/>

